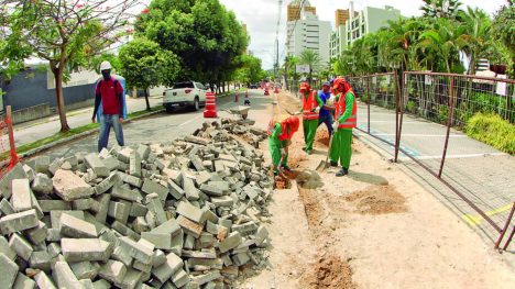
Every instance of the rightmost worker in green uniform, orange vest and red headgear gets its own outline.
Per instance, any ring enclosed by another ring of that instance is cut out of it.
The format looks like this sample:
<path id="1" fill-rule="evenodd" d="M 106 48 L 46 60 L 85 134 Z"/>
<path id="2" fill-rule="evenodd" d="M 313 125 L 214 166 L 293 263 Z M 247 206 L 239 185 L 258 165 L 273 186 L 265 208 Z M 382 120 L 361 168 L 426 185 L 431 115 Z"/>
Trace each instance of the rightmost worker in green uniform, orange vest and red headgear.
<path id="1" fill-rule="evenodd" d="M 329 159 L 331 166 L 338 166 L 338 162 L 340 162 L 341 169 L 336 175 L 341 177 L 349 174 L 352 156 L 352 129 L 358 123 L 358 105 L 351 86 L 343 78 L 335 79 L 332 88 L 337 93 L 338 101 L 335 103 L 335 123 L 332 124 L 335 134 Z"/>

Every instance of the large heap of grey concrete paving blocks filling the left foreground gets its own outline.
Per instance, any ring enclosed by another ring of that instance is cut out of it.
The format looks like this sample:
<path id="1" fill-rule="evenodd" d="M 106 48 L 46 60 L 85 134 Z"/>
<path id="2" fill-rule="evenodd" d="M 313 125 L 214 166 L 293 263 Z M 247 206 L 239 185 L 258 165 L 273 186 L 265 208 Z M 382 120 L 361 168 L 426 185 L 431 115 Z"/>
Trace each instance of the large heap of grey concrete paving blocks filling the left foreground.
<path id="1" fill-rule="evenodd" d="M 227 124 L 17 165 L 0 181 L 0 288 L 230 288 L 266 266 L 272 179 Z"/>

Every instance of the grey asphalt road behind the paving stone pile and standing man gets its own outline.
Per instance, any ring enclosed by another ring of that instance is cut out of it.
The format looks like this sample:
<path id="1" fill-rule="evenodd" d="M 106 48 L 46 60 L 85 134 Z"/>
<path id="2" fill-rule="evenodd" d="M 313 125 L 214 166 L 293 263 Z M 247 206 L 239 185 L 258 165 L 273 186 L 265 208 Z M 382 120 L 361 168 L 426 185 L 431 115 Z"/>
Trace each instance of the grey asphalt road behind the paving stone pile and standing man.
<path id="1" fill-rule="evenodd" d="M 251 99 L 251 111 L 252 113 L 266 110 L 267 103 L 272 100 L 269 97 L 264 97 L 261 90 L 252 89 L 249 90 Z M 204 108 L 197 112 L 188 110 L 177 110 L 173 113 L 158 113 L 142 120 L 138 120 L 123 125 L 123 134 L 125 145 L 134 145 L 144 142 L 158 142 L 165 143 L 174 141 L 177 137 L 193 133 L 196 129 L 200 127 L 204 121 L 215 121 L 220 118 L 231 116 L 230 113 L 222 110 L 242 105 L 243 98 L 240 97 L 239 102 L 234 102 L 234 95 L 217 99 L 218 119 L 204 119 Z M 44 155 L 48 155 L 51 158 L 63 157 L 74 155 L 79 152 L 97 152 L 98 134 L 87 136 L 68 144 L 57 146 L 50 151 L 44 152 Z M 109 138 L 109 147 L 116 144 L 114 132 L 111 131 Z"/>

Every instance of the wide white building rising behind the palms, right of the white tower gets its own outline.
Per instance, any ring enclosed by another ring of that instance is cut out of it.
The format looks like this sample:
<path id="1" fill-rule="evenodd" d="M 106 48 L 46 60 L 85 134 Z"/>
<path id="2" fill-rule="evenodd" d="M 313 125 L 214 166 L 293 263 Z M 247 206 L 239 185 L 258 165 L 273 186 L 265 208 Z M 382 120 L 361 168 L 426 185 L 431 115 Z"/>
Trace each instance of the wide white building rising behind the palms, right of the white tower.
<path id="1" fill-rule="evenodd" d="M 331 33 L 331 58 L 339 57 L 354 41 L 387 26 L 388 20 L 395 21 L 402 16 L 399 10 L 390 5 L 385 5 L 384 8 L 365 7 L 362 11 L 354 11 L 352 1 L 350 2 L 349 10 L 347 10 L 347 14 L 339 11 L 346 10 L 335 11 L 336 30 Z M 344 18 L 346 15 L 348 15 L 347 19 Z"/>

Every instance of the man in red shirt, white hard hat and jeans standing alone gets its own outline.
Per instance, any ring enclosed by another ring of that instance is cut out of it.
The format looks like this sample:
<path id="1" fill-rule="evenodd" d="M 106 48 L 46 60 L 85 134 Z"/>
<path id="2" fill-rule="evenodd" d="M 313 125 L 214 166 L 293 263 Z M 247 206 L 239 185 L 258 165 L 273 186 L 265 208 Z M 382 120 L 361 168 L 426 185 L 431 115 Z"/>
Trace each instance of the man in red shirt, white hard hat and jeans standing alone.
<path id="1" fill-rule="evenodd" d="M 123 146 L 123 88 L 120 81 L 111 77 L 111 64 L 109 62 L 102 62 L 100 64 L 100 73 L 102 79 L 97 84 L 95 91 L 95 110 L 91 118 L 92 122 L 96 122 L 96 115 L 100 103 L 102 104 L 102 112 L 100 113 L 100 135 L 98 140 L 98 152 L 107 147 L 109 141 L 109 132 L 114 130 L 117 142 L 120 146 Z"/>

